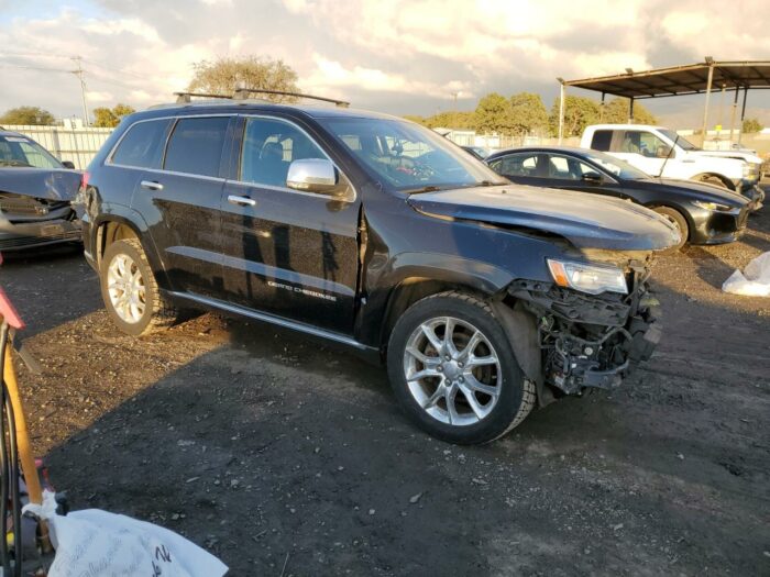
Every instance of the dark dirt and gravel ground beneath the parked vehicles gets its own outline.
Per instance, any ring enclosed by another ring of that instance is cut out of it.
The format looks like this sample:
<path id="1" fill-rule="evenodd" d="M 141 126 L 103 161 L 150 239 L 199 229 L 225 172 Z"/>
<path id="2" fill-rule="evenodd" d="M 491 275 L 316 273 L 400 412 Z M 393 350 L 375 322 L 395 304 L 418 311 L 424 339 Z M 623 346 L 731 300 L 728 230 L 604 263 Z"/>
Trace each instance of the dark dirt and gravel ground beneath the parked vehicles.
<path id="1" fill-rule="evenodd" d="M 770 251 L 770 208 L 749 224 L 659 259 L 664 337 L 620 389 L 483 447 L 418 432 L 384 370 L 306 337 L 211 314 L 123 336 L 77 251 L 10 258 L 0 285 L 73 508 L 165 525 L 230 575 L 770 575 L 770 299 L 719 291 Z"/>

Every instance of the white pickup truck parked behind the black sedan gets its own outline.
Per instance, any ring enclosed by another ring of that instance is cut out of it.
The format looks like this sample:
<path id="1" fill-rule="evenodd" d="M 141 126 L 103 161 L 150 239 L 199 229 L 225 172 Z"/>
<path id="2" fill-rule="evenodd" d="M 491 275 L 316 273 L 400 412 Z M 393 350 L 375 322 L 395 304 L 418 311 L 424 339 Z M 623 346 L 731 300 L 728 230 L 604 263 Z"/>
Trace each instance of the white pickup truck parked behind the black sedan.
<path id="1" fill-rule="evenodd" d="M 594 124 L 585 129 L 580 145 L 609 153 L 652 176 L 698 180 L 747 196 L 755 193 L 761 176 L 759 156 L 745 151 L 703 151 L 662 126 Z"/>

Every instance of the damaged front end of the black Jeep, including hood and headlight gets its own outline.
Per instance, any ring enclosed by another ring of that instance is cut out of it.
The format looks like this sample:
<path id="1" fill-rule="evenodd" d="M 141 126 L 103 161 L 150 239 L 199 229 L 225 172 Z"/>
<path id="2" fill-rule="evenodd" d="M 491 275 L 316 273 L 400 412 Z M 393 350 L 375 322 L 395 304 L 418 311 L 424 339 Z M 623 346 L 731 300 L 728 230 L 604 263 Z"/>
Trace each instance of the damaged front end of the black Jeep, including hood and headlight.
<path id="1" fill-rule="evenodd" d="M 413 203 L 494 231 L 498 252 L 486 258 L 514 278 L 490 304 L 540 407 L 586 388 L 613 389 L 652 355 L 662 331 L 650 266 L 680 240 L 658 214 L 515 185 L 420 195 Z"/>

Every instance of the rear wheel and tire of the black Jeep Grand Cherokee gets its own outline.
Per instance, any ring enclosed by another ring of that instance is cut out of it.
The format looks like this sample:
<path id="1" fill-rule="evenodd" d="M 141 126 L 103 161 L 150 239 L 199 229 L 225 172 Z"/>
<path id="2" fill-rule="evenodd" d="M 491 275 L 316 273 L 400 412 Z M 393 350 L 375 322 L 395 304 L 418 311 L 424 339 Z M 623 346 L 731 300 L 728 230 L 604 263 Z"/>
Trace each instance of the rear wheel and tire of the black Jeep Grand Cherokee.
<path id="1" fill-rule="evenodd" d="M 178 310 L 161 296 L 136 238 L 116 241 L 107 247 L 99 280 L 107 312 L 124 333 L 150 334 L 170 326 L 179 317 Z"/>

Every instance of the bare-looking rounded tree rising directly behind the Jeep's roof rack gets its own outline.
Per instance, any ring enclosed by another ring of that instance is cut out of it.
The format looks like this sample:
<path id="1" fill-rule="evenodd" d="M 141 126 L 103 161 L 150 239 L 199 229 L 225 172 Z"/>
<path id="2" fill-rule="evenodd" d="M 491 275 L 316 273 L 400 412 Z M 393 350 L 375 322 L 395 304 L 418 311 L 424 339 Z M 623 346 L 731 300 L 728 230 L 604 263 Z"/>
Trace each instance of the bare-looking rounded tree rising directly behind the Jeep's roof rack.
<path id="1" fill-rule="evenodd" d="M 283 60 L 257 56 L 244 58 L 219 58 L 202 60 L 193 65 L 193 80 L 188 86 L 191 92 L 206 92 L 231 96 L 238 88 L 280 90 L 299 92 L 297 73 Z M 292 102 L 296 99 L 279 95 L 255 95 L 274 102 Z"/>

